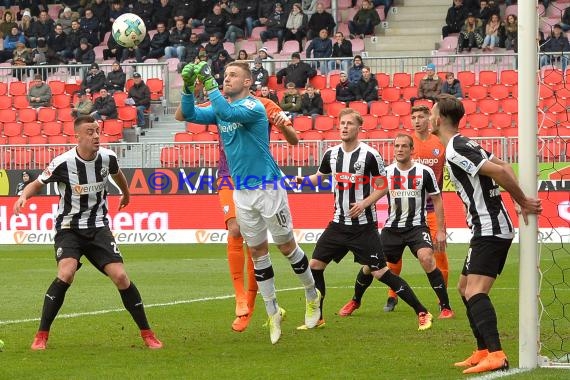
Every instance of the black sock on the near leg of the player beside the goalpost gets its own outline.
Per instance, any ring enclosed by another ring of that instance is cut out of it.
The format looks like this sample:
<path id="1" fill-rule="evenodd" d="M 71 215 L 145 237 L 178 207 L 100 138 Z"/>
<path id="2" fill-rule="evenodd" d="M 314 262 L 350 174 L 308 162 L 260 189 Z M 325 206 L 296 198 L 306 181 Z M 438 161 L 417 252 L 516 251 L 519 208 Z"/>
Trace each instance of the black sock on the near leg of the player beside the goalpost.
<path id="1" fill-rule="evenodd" d="M 497 329 L 497 314 L 487 294 L 478 293 L 467 301 L 469 311 L 477 330 L 483 337 L 489 352 L 501 350 L 501 339 Z"/>

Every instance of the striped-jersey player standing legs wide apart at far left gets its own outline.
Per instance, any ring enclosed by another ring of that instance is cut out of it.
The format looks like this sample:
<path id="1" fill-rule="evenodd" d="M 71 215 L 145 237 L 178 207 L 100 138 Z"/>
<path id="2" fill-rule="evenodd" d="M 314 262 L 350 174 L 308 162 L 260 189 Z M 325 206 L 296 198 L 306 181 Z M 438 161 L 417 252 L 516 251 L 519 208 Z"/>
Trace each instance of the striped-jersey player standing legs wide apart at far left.
<path id="1" fill-rule="evenodd" d="M 56 182 L 59 208 L 55 219 L 55 259 L 57 277 L 48 288 L 38 333 L 32 350 L 45 350 L 51 324 L 65 298 L 67 289 L 81 267 L 81 256 L 117 286 L 123 305 L 141 330 L 145 344 L 152 349 L 162 347 L 148 324 L 143 302 L 135 284 L 129 279 L 123 258 L 107 219 L 107 184 L 109 176 L 121 189 L 119 210 L 129 204 L 127 180 L 117 162 L 115 152 L 99 147 L 101 129 L 91 116 L 74 122 L 77 147 L 57 156 L 14 204 L 18 215 L 27 200 L 41 188 Z"/>

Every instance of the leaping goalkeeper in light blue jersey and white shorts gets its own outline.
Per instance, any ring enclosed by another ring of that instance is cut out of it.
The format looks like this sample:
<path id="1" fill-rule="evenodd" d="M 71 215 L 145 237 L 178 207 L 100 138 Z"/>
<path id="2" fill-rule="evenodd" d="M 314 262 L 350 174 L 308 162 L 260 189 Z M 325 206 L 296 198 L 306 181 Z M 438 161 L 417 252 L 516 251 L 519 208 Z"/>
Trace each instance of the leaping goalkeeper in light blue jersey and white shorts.
<path id="1" fill-rule="evenodd" d="M 236 218 L 253 258 L 255 278 L 269 316 L 272 344 L 281 337 L 285 310 L 279 307 L 273 265 L 269 256 L 269 231 L 281 253 L 305 288 L 305 325 L 313 328 L 320 316 L 320 293 L 309 270 L 309 261 L 293 234 L 287 192 L 279 181 L 283 177 L 269 150 L 267 115 L 261 102 L 249 93 L 253 81 L 249 65 L 231 62 L 224 72 L 224 98 L 205 62 L 188 64 L 182 70 L 184 92 L 176 119 L 200 124 L 215 124 L 224 144 L 230 174 L 235 183 Z M 196 107 L 196 80 L 208 91 L 209 107 Z"/>

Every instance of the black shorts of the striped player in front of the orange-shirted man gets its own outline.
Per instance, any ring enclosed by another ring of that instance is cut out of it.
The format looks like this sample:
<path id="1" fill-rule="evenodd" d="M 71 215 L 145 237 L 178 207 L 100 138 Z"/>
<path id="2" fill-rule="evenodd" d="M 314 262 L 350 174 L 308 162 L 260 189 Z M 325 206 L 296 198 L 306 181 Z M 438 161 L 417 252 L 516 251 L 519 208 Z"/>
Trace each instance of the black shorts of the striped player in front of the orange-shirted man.
<path id="1" fill-rule="evenodd" d="M 380 241 L 382 241 L 386 260 L 393 264 L 400 261 L 406 247 L 410 247 L 410 251 L 416 258 L 421 248 L 433 249 L 427 226 L 384 227 L 380 233 Z"/>

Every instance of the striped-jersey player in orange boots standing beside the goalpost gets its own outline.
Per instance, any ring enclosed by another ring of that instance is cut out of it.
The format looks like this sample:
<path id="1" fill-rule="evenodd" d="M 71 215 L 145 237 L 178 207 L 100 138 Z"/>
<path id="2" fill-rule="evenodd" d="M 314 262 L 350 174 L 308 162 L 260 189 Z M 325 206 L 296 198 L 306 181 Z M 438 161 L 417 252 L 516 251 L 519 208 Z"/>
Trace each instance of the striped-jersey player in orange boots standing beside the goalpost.
<path id="1" fill-rule="evenodd" d="M 509 367 L 501 347 L 497 314 L 489 298 L 514 237 L 513 223 L 499 186 L 518 204 L 525 223 L 528 214 L 540 214 L 542 205 L 540 199 L 523 193 L 508 163 L 459 133 L 459 121 L 464 114 L 460 100 L 452 95 L 440 95 L 432 109 L 430 123 L 432 133 L 446 147 L 451 180 L 465 205 L 467 224 L 472 232 L 458 288 L 477 340 L 477 350 L 455 365 L 469 367 L 463 373 L 479 373 Z"/>

